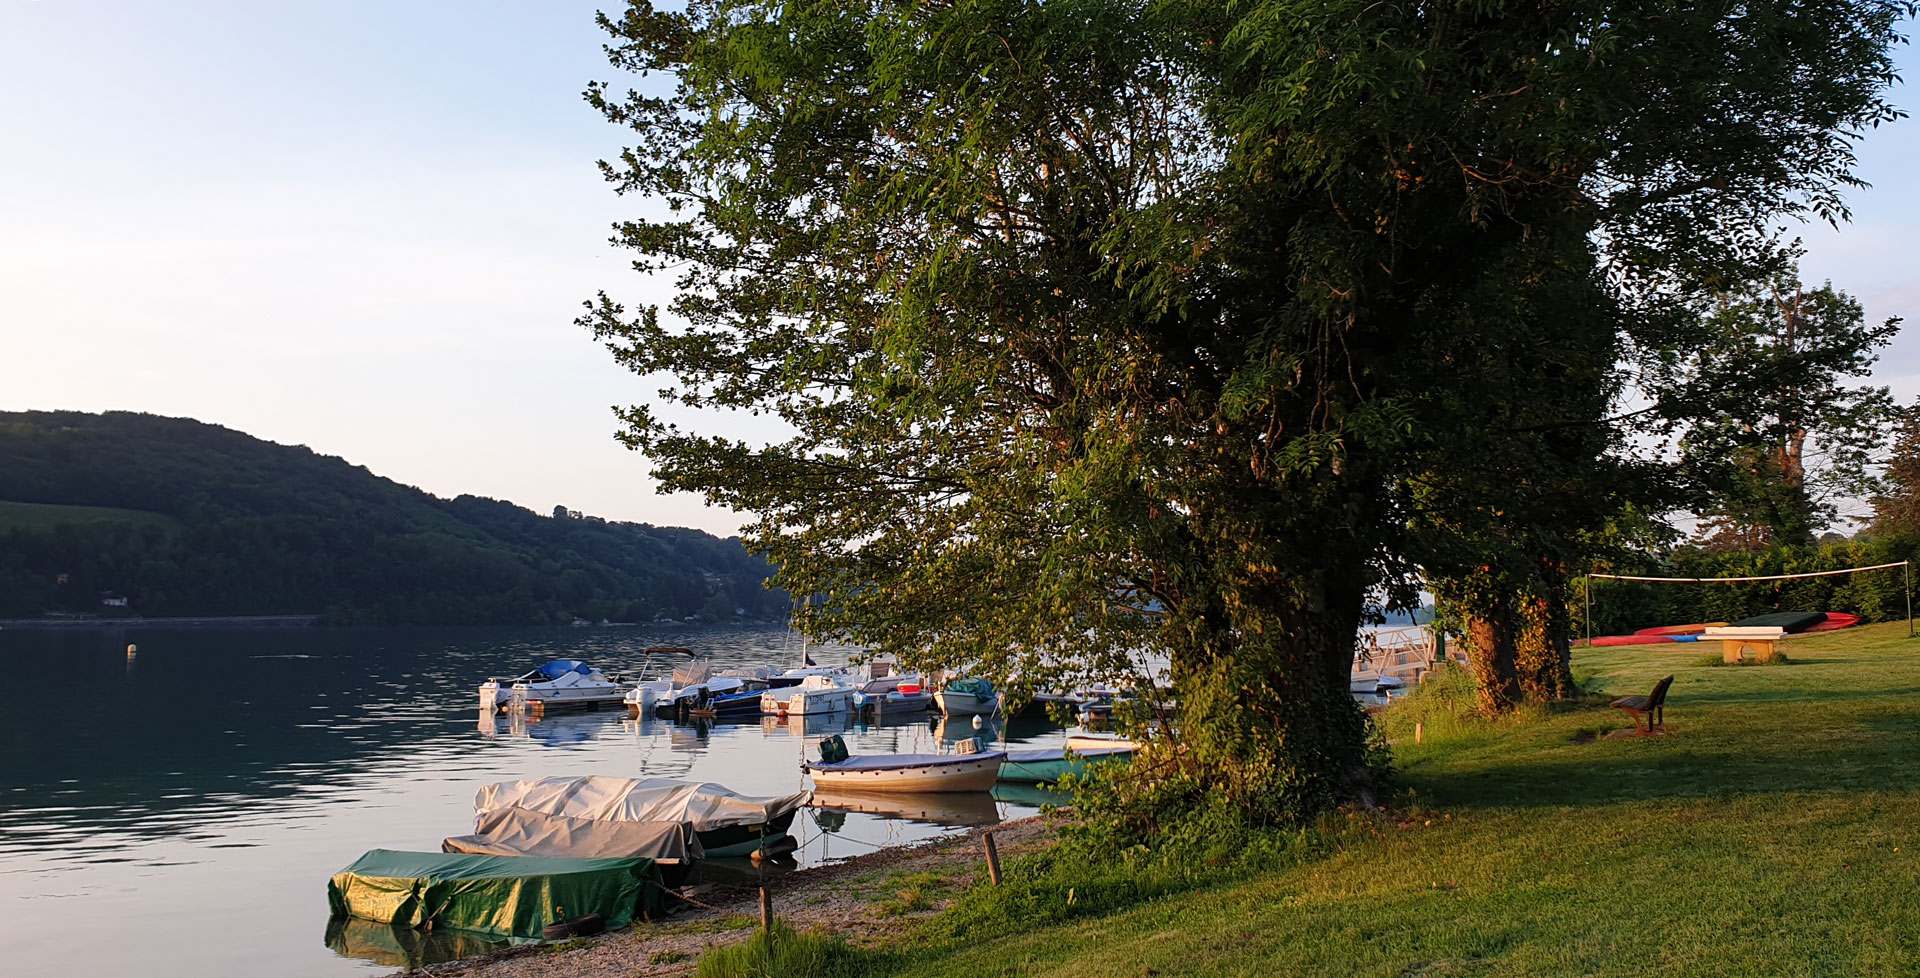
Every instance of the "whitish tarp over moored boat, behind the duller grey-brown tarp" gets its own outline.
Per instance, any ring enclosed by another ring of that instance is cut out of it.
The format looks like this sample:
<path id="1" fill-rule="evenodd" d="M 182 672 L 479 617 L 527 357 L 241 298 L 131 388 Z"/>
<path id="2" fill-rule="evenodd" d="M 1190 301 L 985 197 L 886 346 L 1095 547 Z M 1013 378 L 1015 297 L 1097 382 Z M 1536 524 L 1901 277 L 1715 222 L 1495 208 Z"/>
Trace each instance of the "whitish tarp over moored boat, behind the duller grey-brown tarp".
<path id="1" fill-rule="evenodd" d="M 743 795 L 712 782 L 607 776 L 499 782 L 474 795 L 476 828 L 499 809 L 603 822 L 676 822 L 695 834 L 707 857 L 747 855 L 762 840 L 783 836 L 804 803 L 806 792 Z"/>

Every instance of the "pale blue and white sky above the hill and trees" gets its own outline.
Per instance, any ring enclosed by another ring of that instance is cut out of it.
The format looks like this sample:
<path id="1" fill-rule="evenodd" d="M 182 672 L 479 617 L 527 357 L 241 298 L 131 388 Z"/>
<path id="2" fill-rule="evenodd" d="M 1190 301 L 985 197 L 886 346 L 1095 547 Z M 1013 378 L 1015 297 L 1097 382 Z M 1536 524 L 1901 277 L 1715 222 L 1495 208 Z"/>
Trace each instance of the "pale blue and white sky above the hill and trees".
<path id="1" fill-rule="evenodd" d="M 0 409 L 196 417 L 436 496 L 735 532 L 614 442 L 657 384 L 572 321 L 670 300 L 607 244 L 643 202 L 595 167 L 622 131 L 580 92 L 626 85 L 599 8 L 0 0 Z M 1910 402 L 1920 121 L 1859 173 L 1803 275 L 1910 321 L 1876 375 Z"/>

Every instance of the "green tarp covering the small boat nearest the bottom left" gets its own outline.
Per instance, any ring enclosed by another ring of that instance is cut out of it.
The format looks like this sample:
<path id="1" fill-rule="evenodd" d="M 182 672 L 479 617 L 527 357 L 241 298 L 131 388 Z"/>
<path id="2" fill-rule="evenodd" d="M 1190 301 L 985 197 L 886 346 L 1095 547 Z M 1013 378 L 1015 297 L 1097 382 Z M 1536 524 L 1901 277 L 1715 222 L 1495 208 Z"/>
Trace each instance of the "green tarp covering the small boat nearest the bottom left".
<path id="1" fill-rule="evenodd" d="M 372 849 L 334 874 L 334 917 L 459 928 L 492 940 L 540 940 L 547 924 L 597 913 L 607 928 L 660 909 L 651 859 L 401 853 Z"/>

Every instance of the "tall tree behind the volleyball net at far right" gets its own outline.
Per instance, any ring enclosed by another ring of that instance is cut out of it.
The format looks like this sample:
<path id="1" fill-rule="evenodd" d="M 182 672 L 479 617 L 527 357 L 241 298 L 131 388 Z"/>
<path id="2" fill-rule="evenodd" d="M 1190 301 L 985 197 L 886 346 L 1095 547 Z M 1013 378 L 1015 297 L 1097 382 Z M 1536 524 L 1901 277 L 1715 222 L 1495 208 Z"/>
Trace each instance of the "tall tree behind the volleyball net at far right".
<path id="1" fill-rule="evenodd" d="M 1859 380 L 1901 321 L 1866 325 L 1853 296 L 1791 271 L 1715 296 L 1701 321 L 1668 405 L 1692 415 L 1680 450 L 1709 488 L 1701 536 L 1728 550 L 1807 544 L 1874 490 L 1893 398 Z"/>

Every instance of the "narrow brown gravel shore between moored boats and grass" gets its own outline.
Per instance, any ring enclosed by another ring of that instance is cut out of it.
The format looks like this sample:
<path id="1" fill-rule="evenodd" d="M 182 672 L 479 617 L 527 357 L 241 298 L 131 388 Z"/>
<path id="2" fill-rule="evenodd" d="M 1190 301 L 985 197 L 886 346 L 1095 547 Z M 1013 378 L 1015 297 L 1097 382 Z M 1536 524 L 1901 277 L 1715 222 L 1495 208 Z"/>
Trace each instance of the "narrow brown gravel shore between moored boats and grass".
<path id="1" fill-rule="evenodd" d="M 1050 826 L 1044 815 L 1035 815 L 789 872 L 770 886 L 774 915 L 795 930 L 828 930 L 852 943 L 877 943 L 985 882 L 985 832 L 993 832 L 1006 859 L 1043 845 Z M 564 943 L 507 947 L 394 972 L 394 978 L 666 978 L 691 974 L 703 951 L 743 941 L 760 924 L 755 890 L 703 884 L 685 893 L 710 909 L 687 907 L 664 922 Z"/>

